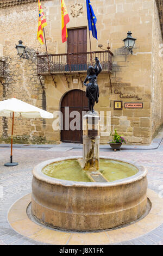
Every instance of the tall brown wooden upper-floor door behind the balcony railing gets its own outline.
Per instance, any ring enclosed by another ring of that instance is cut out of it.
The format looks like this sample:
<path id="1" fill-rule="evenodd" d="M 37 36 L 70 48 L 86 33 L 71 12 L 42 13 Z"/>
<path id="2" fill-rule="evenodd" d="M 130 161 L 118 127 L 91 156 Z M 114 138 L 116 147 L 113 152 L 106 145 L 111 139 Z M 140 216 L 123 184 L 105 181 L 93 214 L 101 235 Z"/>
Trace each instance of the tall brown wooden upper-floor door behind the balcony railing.
<path id="1" fill-rule="evenodd" d="M 68 29 L 67 32 L 67 53 L 86 52 L 87 28 Z M 67 68 L 71 69 L 71 71 L 86 70 L 86 54 L 68 55 L 67 64 Z"/>

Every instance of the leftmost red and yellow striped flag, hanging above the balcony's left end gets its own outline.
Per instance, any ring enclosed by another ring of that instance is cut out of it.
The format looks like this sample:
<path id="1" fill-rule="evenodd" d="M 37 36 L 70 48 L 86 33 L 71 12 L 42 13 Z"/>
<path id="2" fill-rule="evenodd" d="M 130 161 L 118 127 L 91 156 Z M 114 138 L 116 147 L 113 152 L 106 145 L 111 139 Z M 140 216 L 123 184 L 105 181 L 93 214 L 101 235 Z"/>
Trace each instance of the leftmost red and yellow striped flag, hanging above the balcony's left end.
<path id="1" fill-rule="evenodd" d="M 38 31 L 37 31 L 37 39 L 39 40 L 40 44 L 43 45 L 43 28 L 47 26 L 45 16 L 42 11 L 40 0 L 39 2 L 39 25 L 38 25 Z"/>

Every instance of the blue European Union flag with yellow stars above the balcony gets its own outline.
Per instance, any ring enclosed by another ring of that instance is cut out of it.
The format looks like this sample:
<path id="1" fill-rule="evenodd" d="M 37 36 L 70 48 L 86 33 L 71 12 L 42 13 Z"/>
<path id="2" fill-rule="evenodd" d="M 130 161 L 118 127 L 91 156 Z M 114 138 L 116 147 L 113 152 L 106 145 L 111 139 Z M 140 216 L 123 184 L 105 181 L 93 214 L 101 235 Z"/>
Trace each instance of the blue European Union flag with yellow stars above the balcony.
<path id="1" fill-rule="evenodd" d="M 96 29 L 97 19 L 94 14 L 90 0 L 86 0 L 86 8 L 87 8 L 87 20 L 89 23 L 89 30 L 92 31 L 93 38 L 97 39 L 97 29 Z"/>

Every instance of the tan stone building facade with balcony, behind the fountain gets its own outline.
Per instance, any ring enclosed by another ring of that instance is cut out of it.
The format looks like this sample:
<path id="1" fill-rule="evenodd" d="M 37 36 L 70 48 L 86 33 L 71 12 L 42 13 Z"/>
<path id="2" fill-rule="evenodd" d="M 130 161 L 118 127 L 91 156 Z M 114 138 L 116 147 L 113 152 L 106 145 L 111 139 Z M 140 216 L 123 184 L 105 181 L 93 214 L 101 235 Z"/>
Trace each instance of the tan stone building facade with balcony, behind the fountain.
<path id="1" fill-rule="evenodd" d="M 68 0 L 68 29 L 87 28 L 85 0 Z M 91 36 L 92 51 L 110 47 L 112 70 L 98 77 L 100 90 L 96 111 L 111 113 L 111 130 L 124 135 L 129 144 L 149 144 L 163 123 L 163 43 L 162 1 L 160 0 L 91 0 L 97 17 L 98 41 Z M 49 54 L 67 53 L 61 42 L 60 0 L 42 0 Z M 45 45 L 36 39 L 37 0 L 0 0 L 0 59 L 5 61 L 5 76 L 0 77 L 0 100 L 15 96 L 53 113 L 60 111 L 64 96 L 72 90 L 85 91 L 82 81 L 86 72 L 37 76 L 37 54 L 45 54 Z M 131 31 L 136 43 L 133 54 L 124 49 L 122 39 Z M 90 51 L 87 29 L 86 51 Z M 16 55 L 15 44 L 22 40 L 29 60 Z M 102 59 L 100 59 L 102 61 Z M 74 83 L 74 81 L 77 81 Z M 114 109 L 114 101 L 122 101 L 122 109 Z M 143 103 L 142 108 L 125 108 L 125 103 Z M 59 130 L 54 120 L 16 119 L 14 142 L 58 143 Z M 110 132 L 101 130 L 101 143 L 107 143 Z M 9 142 L 11 119 L 1 118 L 1 142 Z"/>

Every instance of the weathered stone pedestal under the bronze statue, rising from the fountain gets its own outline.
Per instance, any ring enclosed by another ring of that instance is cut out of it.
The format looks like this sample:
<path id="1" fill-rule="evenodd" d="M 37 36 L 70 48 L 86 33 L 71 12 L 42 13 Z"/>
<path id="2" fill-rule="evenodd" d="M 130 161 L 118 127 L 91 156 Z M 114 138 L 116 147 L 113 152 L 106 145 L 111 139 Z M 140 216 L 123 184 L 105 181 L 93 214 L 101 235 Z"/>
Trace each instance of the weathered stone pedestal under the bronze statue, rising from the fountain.
<path id="1" fill-rule="evenodd" d="M 99 116 L 96 112 L 83 117 L 83 169 L 99 170 Z"/>

